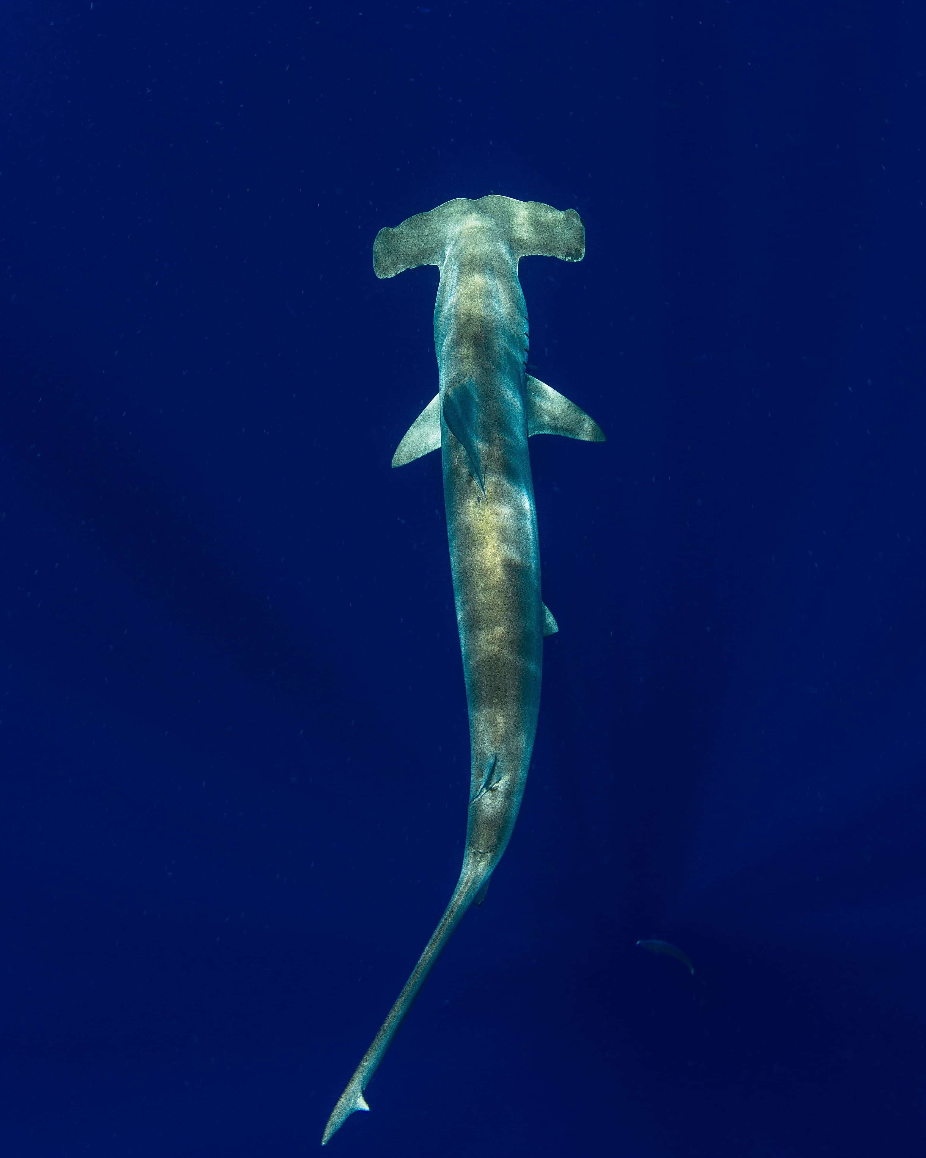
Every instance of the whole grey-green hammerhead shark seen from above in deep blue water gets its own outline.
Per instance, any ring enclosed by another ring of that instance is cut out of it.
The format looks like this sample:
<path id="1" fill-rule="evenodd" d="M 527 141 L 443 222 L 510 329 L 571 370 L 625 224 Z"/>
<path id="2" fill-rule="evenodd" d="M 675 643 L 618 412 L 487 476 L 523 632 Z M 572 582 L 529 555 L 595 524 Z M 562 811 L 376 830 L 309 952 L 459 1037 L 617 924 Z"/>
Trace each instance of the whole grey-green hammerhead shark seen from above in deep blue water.
<path id="1" fill-rule="evenodd" d="M 440 390 L 392 459 L 440 448 L 454 600 L 470 721 L 470 802 L 463 868 L 405 988 L 328 1120 L 322 1145 L 363 1091 L 432 966 L 470 904 L 482 904 L 524 793 L 541 702 L 543 638 L 558 631 L 541 601 L 537 514 L 528 438 L 604 434 L 585 411 L 527 373 L 528 314 L 517 263 L 531 255 L 580 262 L 575 210 L 492 195 L 460 197 L 381 229 L 377 278 L 440 270 L 434 349 Z"/>

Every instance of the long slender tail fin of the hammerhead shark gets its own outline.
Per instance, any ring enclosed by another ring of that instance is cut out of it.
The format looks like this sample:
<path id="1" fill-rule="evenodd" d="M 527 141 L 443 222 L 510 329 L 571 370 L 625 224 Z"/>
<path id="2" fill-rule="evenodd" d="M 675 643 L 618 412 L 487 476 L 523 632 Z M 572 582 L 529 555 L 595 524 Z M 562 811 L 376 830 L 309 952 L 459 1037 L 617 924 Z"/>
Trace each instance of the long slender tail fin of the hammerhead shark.
<path id="1" fill-rule="evenodd" d="M 351 1114 L 358 1109 L 369 1109 L 363 1098 L 363 1090 L 366 1090 L 367 1083 L 376 1072 L 380 1062 L 383 1060 L 383 1054 L 392 1043 L 392 1038 L 395 1038 L 398 1027 L 405 1020 L 405 1014 L 411 1009 L 412 1002 L 418 996 L 418 990 L 425 983 L 428 973 L 431 973 L 432 966 L 440 957 L 441 950 L 450 939 L 450 933 L 460 924 L 463 914 L 480 893 L 486 877 L 491 873 L 497 859 L 497 857 L 487 853 L 476 852 L 473 849 L 466 850 L 466 856 L 463 860 L 463 871 L 454 889 L 454 895 L 450 897 L 450 903 L 444 909 L 438 928 L 425 946 L 425 952 L 418 959 L 418 965 L 416 965 L 411 977 L 405 982 L 405 988 L 396 998 L 396 1004 L 389 1011 L 389 1016 L 380 1027 L 380 1032 L 373 1039 L 373 1045 L 363 1054 L 360 1064 L 354 1070 L 353 1077 L 347 1083 L 347 1089 L 338 1098 L 337 1105 L 331 1111 L 331 1117 L 329 1117 L 325 1133 L 322 1135 L 322 1145 L 340 1129 Z"/>

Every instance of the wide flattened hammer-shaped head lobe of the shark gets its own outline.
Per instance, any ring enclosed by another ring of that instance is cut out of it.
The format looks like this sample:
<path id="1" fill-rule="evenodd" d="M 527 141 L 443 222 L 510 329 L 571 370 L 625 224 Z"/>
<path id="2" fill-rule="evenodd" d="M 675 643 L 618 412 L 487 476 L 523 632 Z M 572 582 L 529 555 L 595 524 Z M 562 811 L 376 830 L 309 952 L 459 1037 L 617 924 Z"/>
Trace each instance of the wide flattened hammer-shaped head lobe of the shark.
<path id="1" fill-rule="evenodd" d="M 575 210 L 560 211 L 543 201 L 516 201 L 490 193 L 477 201 L 457 197 L 428 213 L 416 213 L 395 229 L 380 229 L 373 243 L 376 277 L 394 278 L 416 265 L 442 265 L 453 230 L 472 225 L 501 234 L 519 258 L 581 262 L 585 257 L 586 230 Z"/>

